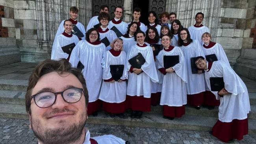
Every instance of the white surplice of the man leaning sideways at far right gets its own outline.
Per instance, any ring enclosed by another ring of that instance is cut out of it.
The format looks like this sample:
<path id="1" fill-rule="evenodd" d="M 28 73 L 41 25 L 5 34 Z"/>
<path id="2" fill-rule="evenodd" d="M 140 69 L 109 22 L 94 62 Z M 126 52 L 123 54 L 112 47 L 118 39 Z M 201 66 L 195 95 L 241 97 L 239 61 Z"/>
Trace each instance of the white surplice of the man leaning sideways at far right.
<path id="1" fill-rule="evenodd" d="M 219 120 L 232 122 L 234 119 L 244 120 L 250 111 L 247 87 L 236 72 L 223 61 L 214 61 L 211 69 L 204 74 L 209 89 L 210 77 L 223 77 L 224 88 L 230 93 L 221 98 L 217 91 L 212 91 L 216 99 L 220 100 Z"/>

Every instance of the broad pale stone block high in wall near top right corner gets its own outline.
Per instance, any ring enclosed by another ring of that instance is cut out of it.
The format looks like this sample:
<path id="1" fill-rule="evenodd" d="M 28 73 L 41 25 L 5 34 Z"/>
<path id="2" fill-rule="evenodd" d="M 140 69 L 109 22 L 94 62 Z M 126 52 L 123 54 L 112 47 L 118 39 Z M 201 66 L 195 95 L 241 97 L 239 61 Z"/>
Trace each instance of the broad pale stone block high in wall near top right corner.
<path id="1" fill-rule="evenodd" d="M 224 17 L 245 18 L 246 17 L 246 9 L 225 8 Z"/>

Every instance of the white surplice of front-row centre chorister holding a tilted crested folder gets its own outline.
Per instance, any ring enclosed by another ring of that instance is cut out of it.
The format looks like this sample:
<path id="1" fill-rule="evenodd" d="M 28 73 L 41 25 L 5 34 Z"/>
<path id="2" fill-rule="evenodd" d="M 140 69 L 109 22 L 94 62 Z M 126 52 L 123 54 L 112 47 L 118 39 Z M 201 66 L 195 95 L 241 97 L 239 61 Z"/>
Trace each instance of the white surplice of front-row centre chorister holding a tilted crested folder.
<path id="1" fill-rule="evenodd" d="M 140 47 L 135 44 L 132 46 L 129 54 L 127 55 L 127 71 L 130 70 L 129 59 L 141 53 L 146 62 L 141 66 L 143 72 L 139 75 L 134 72 L 129 72 L 129 79 L 127 85 L 127 95 L 129 96 L 144 96 L 144 98 L 150 98 L 151 96 L 151 83 L 158 82 L 158 74 L 154 63 L 153 50 L 151 46 Z"/>

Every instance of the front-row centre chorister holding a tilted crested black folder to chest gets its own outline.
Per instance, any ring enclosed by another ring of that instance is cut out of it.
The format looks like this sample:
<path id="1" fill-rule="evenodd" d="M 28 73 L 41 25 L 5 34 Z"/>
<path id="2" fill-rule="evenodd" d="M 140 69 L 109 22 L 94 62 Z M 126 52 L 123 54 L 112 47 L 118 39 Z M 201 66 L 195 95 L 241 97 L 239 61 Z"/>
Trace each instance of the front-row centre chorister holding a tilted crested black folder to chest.
<path id="1" fill-rule="evenodd" d="M 150 96 L 151 83 L 158 82 L 156 66 L 154 65 L 153 51 L 150 46 L 145 44 L 145 33 L 138 31 L 135 34 L 135 41 L 138 43 L 132 46 L 127 55 L 127 71 L 129 71 L 129 80 L 127 85 L 127 108 L 132 109 L 131 118 L 141 118 L 142 111 L 151 111 Z M 145 63 L 141 68 L 134 68 L 128 62 L 129 59 L 141 53 Z"/>

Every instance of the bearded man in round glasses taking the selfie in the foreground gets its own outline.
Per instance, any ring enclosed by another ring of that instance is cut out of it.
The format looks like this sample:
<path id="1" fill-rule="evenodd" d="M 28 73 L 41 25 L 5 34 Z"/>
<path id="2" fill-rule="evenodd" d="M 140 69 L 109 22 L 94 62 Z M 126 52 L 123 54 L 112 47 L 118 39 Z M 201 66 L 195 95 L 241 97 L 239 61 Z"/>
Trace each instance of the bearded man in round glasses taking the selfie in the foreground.
<path id="1" fill-rule="evenodd" d="M 25 95 L 30 128 L 39 144 L 125 144 L 113 135 L 90 137 L 85 127 L 88 92 L 83 74 L 67 59 L 36 66 Z"/>

